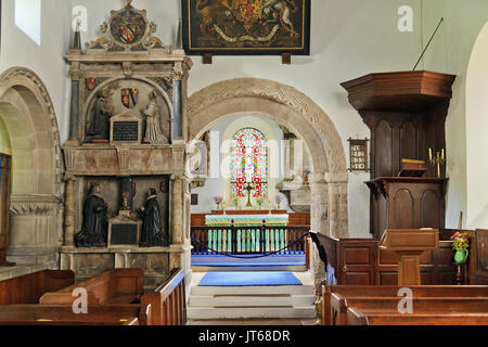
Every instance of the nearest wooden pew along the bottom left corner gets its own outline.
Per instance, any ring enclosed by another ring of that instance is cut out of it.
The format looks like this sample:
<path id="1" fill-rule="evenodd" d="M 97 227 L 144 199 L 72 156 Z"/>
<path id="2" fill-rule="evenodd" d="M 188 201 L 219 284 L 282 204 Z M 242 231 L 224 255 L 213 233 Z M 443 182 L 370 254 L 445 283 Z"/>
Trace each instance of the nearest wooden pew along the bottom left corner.
<path id="1" fill-rule="evenodd" d="M 75 314 L 67 305 L 0 306 L 0 325 L 152 325 L 151 305 L 95 305 Z"/>

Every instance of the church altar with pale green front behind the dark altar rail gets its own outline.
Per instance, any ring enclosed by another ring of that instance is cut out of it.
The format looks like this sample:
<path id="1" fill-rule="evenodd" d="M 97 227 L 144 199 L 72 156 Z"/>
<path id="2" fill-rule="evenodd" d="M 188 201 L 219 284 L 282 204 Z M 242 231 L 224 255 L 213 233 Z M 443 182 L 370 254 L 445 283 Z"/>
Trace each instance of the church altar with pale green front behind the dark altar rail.
<path id="1" fill-rule="evenodd" d="M 275 252 L 286 246 L 286 230 L 275 228 L 285 227 L 288 223 L 288 215 L 207 215 L 205 222 L 208 227 L 231 227 L 232 220 L 235 230 L 239 253 L 249 252 Z M 265 230 L 266 248 L 260 249 L 262 221 L 266 226 L 274 227 Z M 242 227 L 254 227 L 242 230 Z M 217 252 L 230 252 L 232 249 L 232 230 L 209 229 L 207 246 Z"/>

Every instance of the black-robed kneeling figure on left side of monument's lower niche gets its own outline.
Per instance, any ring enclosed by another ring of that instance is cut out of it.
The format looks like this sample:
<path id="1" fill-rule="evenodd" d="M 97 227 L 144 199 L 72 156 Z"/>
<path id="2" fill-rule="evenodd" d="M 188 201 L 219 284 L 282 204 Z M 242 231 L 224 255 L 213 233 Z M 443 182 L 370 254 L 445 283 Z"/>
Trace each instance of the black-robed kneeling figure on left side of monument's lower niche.
<path id="1" fill-rule="evenodd" d="M 108 230 L 107 205 L 101 196 L 102 188 L 94 183 L 90 187 L 84 206 L 81 230 L 75 234 L 77 247 L 105 247 Z"/>

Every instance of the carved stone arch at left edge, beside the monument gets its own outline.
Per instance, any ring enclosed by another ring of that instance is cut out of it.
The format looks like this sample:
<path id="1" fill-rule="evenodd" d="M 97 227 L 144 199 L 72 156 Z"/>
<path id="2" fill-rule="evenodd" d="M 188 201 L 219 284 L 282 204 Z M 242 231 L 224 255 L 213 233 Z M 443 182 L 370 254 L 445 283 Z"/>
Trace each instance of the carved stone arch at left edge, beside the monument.
<path id="1" fill-rule="evenodd" d="M 9 260 L 57 266 L 62 230 L 62 157 L 49 93 L 31 70 L 0 75 L 0 119 L 12 155 Z"/>

